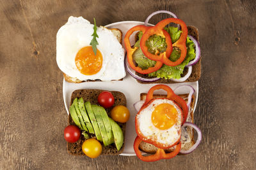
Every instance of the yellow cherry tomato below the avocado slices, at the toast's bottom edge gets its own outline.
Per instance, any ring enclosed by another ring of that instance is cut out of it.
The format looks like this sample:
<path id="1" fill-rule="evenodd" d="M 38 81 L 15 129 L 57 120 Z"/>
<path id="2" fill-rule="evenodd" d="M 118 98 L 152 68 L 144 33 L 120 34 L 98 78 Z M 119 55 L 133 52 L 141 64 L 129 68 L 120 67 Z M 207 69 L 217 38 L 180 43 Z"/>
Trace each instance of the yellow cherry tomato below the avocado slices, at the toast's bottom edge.
<path id="1" fill-rule="evenodd" d="M 102 146 L 97 139 L 91 138 L 84 141 L 82 150 L 87 157 L 97 158 L 102 152 Z"/>

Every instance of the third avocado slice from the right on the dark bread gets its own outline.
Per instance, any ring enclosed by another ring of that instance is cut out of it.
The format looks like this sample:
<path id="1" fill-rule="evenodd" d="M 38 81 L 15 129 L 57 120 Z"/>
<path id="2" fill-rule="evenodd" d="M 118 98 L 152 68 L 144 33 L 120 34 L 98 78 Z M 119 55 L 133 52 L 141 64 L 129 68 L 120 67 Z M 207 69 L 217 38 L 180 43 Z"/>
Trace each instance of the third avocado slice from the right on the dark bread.
<path id="1" fill-rule="evenodd" d="M 103 140 L 103 144 L 104 146 L 108 146 L 110 143 L 109 139 L 108 139 L 108 134 L 106 132 L 106 128 L 104 126 L 104 122 L 102 120 L 102 117 L 100 115 L 100 107 L 97 106 L 96 104 L 92 104 L 92 110 L 93 110 L 93 113 L 95 115 L 95 118 L 97 120 L 97 123 L 99 125 L 99 129 L 100 129 L 100 134 L 102 136 L 102 140 Z"/>

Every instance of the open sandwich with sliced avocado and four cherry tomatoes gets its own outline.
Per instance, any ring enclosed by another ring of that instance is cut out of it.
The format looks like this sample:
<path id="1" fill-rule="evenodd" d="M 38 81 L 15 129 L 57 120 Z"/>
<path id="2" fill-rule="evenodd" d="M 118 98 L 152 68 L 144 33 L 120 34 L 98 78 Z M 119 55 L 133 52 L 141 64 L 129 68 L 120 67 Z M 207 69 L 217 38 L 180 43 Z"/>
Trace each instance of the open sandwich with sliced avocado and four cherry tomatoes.
<path id="1" fill-rule="evenodd" d="M 124 150 L 125 122 L 129 119 L 122 92 L 83 89 L 72 92 L 64 137 L 68 152 L 95 158 Z"/>

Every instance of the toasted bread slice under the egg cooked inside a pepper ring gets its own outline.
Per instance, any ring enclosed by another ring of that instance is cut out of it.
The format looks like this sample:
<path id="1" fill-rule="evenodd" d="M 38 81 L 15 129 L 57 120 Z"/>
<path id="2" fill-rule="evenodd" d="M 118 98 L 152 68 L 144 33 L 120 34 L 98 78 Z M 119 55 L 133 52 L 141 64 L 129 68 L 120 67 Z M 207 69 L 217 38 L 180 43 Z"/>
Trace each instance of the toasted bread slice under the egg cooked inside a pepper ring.
<path id="1" fill-rule="evenodd" d="M 142 93 L 140 94 L 140 99 L 141 100 L 145 100 L 146 99 L 146 96 L 147 94 L 145 93 Z M 185 101 L 188 101 L 188 94 L 180 94 L 179 95 L 180 97 L 182 97 L 182 99 L 184 99 Z M 163 98 L 163 97 L 166 97 L 166 95 L 163 95 L 163 94 L 154 94 L 153 95 L 153 98 L 156 99 L 156 98 Z M 195 106 L 195 96 L 192 96 L 192 99 L 191 99 L 191 104 L 190 104 L 190 109 L 189 109 L 189 115 L 190 115 L 190 118 L 191 120 L 188 120 L 187 118 L 187 122 L 191 122 L 193 123 L 194 122 L 194 106 Z M 186 127 L 186 131 L 188 133 L 188 138 L 191 139 L 190 142 L 183 142 L 182 140 L 182 145 L 181 145 L 181 149 L 182 150 L 188 150 L 189 148 L 191 148 L 191 146 L 193 146 L 195 144 L 195 141 L 194 141 L 194 133 L 193 133 L 193 129 L 191 129 L 190 127 Z M 186 138 L 186 140 L 188 140 Z M 150 154 L 153 154 L 153 153 L 156 153 L 157 151 L 157 147 L 150 144 L 150 143 L 146 143 L 144 141 L 142 141 L 140 143 L 140 146 L 139 146 L 140 150 L 145 152 L 145 153 L 150 153 Z M 164 150 L 166 153 L 168 152 L 172 152 L 173 151 L 173 148 L 169 148 L 167 150 Z"/>

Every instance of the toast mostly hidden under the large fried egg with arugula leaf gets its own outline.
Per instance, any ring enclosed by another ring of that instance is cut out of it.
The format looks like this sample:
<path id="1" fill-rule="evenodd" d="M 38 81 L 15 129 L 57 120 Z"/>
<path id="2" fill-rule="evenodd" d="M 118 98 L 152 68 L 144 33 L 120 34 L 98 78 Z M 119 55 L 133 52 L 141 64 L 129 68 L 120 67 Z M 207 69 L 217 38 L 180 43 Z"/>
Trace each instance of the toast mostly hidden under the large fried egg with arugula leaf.
<path id="1" fill-rule="evenodd" d="M 116 39 L 118 40 L 118 42 L 120 44 L 122 44 L 122 35 L 123 35 L 122 31 L 120 29 L 116 29 L 116 28 L 109 29 L 109 30 L 114 34 L 114 36 L 116 36 Z M 65 80 L 70 82 L 70 83 L 85 82 L 85 81 L 79 80 L 78 78 L 70 77 L 65 73 L 63 73 L 63 76 L 64 76 Z M 121 79 L 121 80 L 123 80 L 123 79 Z M 86 81 L 101 81 L 101 80 L 86 80 Z"/>

